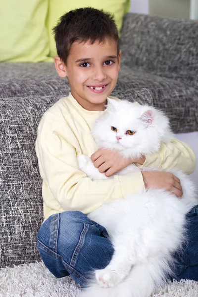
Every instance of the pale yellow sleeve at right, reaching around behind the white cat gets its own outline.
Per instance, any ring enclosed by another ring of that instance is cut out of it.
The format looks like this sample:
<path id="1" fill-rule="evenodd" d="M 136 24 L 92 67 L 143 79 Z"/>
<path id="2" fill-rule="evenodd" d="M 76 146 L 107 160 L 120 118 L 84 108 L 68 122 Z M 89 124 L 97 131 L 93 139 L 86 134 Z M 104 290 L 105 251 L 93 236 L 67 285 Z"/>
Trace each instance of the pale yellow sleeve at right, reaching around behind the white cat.
<path id="1" fill-rule="evenodd" d="M 158 152 L 146 156 L 141 167 L 158 167 L 161 169 L 177 168 L 187 175 L 193 173 L 196 168 L 196 156 L 193 149 L 186 143 L 174 138 L 171 142 L 162 143 Z"/>

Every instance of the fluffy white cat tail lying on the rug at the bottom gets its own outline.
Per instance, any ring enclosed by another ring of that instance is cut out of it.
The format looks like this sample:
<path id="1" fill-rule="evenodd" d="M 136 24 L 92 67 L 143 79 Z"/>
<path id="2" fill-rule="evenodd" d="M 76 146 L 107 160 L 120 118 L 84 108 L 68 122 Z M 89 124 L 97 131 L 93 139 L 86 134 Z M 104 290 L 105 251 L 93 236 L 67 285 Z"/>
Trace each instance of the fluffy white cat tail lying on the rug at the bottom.
<path id="1" fill-rule="evenodd" d="M 127 278 L 111 288 L 102 288 L 96 282 L 83 289 L 80 297 L 149 297 L 163 287 L 166 273 L 170 273 L 167 259 L 151 259 L 135 265 Z"/>

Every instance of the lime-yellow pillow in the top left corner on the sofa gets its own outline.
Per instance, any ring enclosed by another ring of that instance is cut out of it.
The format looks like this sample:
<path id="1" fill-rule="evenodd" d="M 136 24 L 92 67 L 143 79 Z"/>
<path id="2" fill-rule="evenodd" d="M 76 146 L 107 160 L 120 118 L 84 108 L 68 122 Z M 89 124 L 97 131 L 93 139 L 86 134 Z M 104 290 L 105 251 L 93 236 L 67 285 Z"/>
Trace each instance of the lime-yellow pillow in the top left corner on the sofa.
<path id="1" fill-rule="evenodd" d="M 2 0 L 0 61 L 51 61 L 45 20 L 48 0 Z"/>

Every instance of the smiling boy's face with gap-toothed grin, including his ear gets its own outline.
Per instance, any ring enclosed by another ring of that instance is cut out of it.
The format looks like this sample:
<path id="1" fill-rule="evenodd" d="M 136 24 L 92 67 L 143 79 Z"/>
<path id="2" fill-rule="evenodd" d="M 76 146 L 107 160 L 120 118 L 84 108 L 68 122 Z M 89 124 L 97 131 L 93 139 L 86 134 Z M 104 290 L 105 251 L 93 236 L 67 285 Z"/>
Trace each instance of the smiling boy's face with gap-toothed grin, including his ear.
<path id="1" fill-rule="evenodd" d="M 74 42 L 67 65 L 55 57 L 55 66 L 61 77 L 68 78 L 71 94 L 87 110 L 103 110 L 106 97 L 111 94 L 120 71 L 117 44 L 106 39 L 94 44 Z"/>

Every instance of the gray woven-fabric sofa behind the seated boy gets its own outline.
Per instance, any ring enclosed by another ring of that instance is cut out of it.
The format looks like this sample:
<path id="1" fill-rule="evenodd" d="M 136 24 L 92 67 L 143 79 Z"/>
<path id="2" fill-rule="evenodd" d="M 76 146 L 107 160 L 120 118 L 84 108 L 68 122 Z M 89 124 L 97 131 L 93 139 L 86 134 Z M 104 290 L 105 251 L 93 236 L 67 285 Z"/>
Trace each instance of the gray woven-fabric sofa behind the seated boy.
<path id="1" fill-rule="evenodd" d="M 113 95 L 163 109 L 175 133 L 198 131 L 198 22 L 129 13 L 121 49 Z M 0 64 L 0 267 L 40 260 L 37 126 L 68 92 L 52 63 Z"/>

